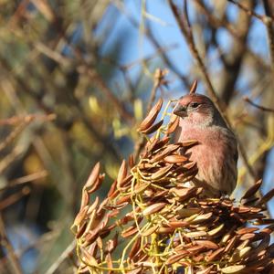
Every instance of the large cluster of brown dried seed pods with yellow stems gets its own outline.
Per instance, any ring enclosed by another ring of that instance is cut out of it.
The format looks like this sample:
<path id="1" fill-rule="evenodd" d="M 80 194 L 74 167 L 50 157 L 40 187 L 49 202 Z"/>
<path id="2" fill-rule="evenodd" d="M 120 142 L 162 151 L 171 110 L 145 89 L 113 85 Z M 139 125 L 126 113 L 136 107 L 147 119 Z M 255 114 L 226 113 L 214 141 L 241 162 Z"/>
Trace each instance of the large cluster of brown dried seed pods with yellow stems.
<path id="1" fill-rule="evenodd" d="M 140 132 L 152 128 L 162 103 Z M 197 142 L 171 143 L 172 127 L 173 117 L 137 163 L 121 163 L 102 200 L 93 194 L 104 178 L 95 165 L 72 226 L 79 273 L 272 273 L 274 220 L 265 210 L 274 192 L 259 199 L 258 181 L 240 201 L 205 198 L 184 153 Z"/>

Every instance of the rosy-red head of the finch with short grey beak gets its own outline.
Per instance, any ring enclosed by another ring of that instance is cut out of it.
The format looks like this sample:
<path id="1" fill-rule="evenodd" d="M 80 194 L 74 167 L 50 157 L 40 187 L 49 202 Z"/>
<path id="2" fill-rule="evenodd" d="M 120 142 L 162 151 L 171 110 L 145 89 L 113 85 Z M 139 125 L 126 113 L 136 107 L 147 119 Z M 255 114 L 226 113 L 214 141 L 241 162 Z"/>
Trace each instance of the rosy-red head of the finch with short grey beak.
<path id="1" fill-rule="evenodd" d="M 198 93 L 181 97 L 174 108 L 174 114 L 195 125 L 226 125 L 213 101 Z"/>

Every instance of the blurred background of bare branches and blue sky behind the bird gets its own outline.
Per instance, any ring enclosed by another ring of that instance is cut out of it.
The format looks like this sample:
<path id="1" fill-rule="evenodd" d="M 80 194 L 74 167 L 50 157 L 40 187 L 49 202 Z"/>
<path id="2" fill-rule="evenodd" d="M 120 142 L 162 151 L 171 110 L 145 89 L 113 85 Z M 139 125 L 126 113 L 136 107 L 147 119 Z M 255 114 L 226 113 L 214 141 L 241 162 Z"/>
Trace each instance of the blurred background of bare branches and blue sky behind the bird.
<path id="1" fill-rule="evenodd" d="M 268 192 L 273 22 L 271 0 L 1 0 L 0 273 L 74 273 L 69 227 L 92 166 L 104 195 L 154 100 L 195 79 L 237 132 L 234 195 L 259 178 Z"/>

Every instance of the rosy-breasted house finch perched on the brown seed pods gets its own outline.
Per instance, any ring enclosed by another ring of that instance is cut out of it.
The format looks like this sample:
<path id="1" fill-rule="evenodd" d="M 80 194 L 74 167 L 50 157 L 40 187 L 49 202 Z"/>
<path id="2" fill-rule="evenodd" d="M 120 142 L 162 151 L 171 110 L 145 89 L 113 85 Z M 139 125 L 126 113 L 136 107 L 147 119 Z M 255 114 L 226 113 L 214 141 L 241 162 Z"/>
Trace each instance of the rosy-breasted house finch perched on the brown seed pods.
<path id="1" fill-rule="evenodd" d="M 180 117 L 176 142 L 198 141 L 185 152 L 198 167 L 193 183 L 209 197 L 230 195 L 237 184 L 237 140 L 212 100 L 187 94 L 179 99 L 174 114 Z"/>

